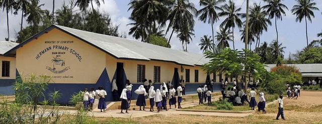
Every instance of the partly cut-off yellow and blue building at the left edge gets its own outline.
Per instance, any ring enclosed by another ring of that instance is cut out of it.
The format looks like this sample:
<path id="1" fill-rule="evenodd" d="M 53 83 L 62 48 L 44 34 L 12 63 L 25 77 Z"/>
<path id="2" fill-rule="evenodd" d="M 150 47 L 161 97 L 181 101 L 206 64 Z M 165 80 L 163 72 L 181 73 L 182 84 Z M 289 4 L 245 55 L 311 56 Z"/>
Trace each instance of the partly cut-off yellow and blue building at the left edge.
<path id="1" fill-rule="evenodd" d="M 18 45 L 11 41 L 0 41 L 0 94 L 12 95 L 14 93 L 12 84 L 16 79 L 16 57 L 15 55 L 4 54 Z"/>

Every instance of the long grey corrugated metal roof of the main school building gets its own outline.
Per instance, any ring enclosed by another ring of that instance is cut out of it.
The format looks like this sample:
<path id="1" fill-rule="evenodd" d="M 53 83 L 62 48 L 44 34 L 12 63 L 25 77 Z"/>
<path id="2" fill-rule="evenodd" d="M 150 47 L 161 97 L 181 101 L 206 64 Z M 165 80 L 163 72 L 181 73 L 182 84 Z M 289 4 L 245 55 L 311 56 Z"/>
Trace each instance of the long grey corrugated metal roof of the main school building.
<path id="1" fill-rule="evenodd" d="M 137 40 L 104 35 L 65 26 L 55 25 L 118 58 L 164 60 L 185 65 L 202 65 L 209 61 L 203 54 L 189 53 Z"/>

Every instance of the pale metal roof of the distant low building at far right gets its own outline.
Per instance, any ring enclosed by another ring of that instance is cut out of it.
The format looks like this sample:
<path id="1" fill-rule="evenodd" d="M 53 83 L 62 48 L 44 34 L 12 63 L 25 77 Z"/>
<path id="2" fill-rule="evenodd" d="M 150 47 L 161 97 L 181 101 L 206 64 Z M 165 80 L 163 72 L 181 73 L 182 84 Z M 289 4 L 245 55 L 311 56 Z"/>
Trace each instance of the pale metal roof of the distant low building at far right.
<path id="1" fill-rule="evenodd" d="M 267 67 L 265 67 L 265 69 L 267 71 L 271 71 L 271 68 L 276 66 L 276 64 L 265 64 L 267 65 Z M 312 64 L 286 64 L 286 65 L 294 65 L 295 67 L 297 67 L 300 72 L 321 72 L 322 73 L 322 63 L 312 63 Z"/>

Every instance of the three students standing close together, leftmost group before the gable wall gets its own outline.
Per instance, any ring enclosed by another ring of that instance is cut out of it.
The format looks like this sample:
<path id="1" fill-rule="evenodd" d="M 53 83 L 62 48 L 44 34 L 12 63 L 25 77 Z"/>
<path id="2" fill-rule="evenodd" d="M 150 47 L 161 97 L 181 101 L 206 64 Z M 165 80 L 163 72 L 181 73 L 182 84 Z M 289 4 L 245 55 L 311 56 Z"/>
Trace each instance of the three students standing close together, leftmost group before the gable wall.
<path id="1" fill-rule="evenodd" d="M 107 95 L 106 91 L 104 90 L 103 86 L 98 87 L 97 90 L 94 91 L 94 87 L 91 88 L 89 92 L 87 88 L 84 88 L 83 91 L 83 104 L 85 110 L 93 110 L 93 105 L 95 101 L 98 102 L 98 109 L 101 109 L 101 112 L 105 112 L 106 103 L 105 103 L 105 96 Z M 97 99 L 97 100 L 95 100 Z M 103 111 L 102 111 L 103 110 Z"/>

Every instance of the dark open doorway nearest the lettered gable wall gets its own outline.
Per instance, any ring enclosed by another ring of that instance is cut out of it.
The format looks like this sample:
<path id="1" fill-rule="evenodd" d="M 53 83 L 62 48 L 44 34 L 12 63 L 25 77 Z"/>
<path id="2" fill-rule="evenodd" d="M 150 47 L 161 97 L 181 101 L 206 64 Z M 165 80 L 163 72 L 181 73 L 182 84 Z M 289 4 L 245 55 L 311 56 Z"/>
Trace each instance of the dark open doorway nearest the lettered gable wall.
<path id="1" fill-rule="evenodd" d="M 124 69 L 123 69 L 122 62 L 117 62 L 117 64 L 116 64 L 116 85 L 117 85 L 117 91 L 119 92 L 119 95 L 121 95 L 122 90 L 125 86 L 125 84 L 124 84 Z"/>

